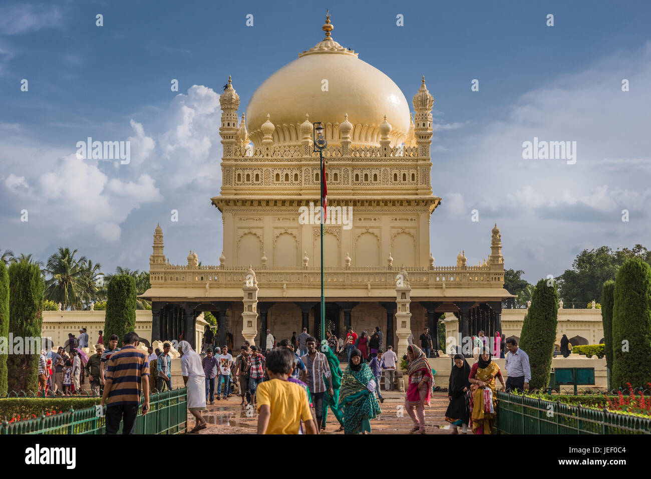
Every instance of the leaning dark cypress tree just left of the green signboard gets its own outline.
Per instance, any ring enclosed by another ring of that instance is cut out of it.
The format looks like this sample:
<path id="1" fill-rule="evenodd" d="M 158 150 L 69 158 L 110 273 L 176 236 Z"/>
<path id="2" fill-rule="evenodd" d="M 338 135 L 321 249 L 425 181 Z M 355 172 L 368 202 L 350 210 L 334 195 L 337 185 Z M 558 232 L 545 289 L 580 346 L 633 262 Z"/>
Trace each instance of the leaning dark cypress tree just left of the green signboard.
<path id="1" fill-rule="evenodd" d="M 556 285 L 540 280 L 531 295 L 531 306 L 522 325 L 519 346 L 529 355 L 530 389 L 549 386 L 551 358 L 556 340 L 559 293 Z"/>

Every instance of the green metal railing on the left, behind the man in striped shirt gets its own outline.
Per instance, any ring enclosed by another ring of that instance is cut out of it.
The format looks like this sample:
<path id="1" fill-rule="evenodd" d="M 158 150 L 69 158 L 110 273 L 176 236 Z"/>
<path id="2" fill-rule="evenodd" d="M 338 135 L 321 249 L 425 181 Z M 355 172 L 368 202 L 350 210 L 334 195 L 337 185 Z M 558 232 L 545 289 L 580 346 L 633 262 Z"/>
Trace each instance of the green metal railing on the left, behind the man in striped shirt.
<path id="1" fill-rule="evenodd" d="M 104 408 L 105 412 L 105 408 Z M 186 388 L 157 392 L 149 396 L 149 412 L 143 416 L 142 405 L 133 428 L 134 434 L 179 434 L 187 429 Z M 122 423 L 118 434 L 122 433 Z M 0 425 L 2 434 L 105 434 L 102 411 L 87 407 L 53 416 L 23 420 Z"/>

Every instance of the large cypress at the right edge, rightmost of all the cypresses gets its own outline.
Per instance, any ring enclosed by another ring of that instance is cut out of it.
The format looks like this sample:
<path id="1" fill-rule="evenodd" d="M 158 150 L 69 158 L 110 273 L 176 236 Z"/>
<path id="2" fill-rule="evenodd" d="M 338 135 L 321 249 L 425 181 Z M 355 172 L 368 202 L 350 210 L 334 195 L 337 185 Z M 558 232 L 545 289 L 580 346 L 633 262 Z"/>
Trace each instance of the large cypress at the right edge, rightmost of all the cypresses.
<path id="1" fill-rule="evenodd" d="M 631 258 L 620 267 L 613 294 L 613 388 L 651 382 L 651 267 Z"/>

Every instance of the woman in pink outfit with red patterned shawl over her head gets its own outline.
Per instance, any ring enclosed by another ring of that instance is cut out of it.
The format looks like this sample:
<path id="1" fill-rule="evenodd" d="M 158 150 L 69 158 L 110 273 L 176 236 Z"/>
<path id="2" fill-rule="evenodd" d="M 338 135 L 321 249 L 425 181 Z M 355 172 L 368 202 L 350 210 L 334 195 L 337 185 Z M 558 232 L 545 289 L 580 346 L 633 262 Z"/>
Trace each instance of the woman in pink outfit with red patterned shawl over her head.
<path id="1" fill-rule="evenodd" d="M 432 369 L 427 362 L 425 353 L 417 345 L 409 345 L 407 348 L 407 360 L 409 366 L 409 386 L 405 398 L 405 409 L 411 420 L 413 428 L 409 434 L 425 433 L 425 405 L 430 405 L 430 390 L 434 384 Z"/>

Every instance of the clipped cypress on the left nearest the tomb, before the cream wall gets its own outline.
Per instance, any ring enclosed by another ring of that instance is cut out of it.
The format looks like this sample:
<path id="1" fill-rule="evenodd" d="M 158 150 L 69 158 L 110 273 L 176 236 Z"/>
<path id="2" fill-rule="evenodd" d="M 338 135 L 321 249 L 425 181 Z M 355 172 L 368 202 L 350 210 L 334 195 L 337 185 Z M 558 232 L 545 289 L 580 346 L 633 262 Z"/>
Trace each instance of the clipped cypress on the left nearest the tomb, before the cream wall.
<path id="1" fill-rule="evenodd" d="M 122 347 L 124 335 L 135 331 L 135 302 L 135 280 L 132 276 L 113 276 L 106 288 L 105 343 L 108 344 L 111 334 L 117 334 L 118 347 Z"/>

